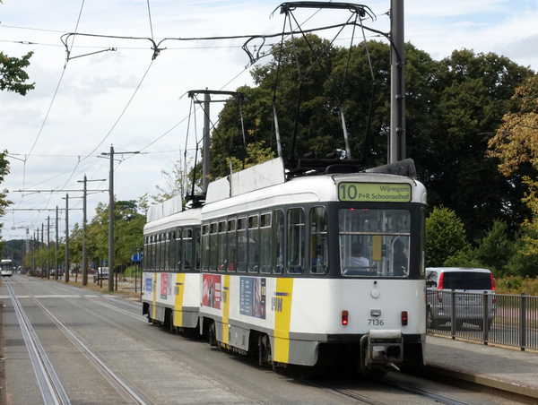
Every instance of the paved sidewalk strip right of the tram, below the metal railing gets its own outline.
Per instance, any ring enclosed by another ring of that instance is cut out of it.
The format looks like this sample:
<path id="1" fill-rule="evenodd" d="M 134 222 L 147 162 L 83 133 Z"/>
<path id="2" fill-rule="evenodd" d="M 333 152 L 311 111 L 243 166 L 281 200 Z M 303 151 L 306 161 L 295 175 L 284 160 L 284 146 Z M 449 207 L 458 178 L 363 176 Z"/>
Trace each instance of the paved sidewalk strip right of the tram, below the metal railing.
<path id="1" fill-rule="evenodd" d="M 428 335 L 426 363 L 434 373 L 538 399 L 538 353 Z"/>

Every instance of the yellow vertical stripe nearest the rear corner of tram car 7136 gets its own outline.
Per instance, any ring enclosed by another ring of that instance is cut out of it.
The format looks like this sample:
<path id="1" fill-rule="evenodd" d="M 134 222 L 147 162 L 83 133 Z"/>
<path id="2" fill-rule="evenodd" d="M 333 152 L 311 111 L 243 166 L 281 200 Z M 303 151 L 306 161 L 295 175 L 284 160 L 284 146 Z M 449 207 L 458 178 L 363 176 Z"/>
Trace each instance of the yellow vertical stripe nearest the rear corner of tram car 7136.
<path id="1" fill-rule="evenodd" d="M 273 361 L 288 363 L 290 357 L 291 294 L 293 279 L 276 280 Z"/>

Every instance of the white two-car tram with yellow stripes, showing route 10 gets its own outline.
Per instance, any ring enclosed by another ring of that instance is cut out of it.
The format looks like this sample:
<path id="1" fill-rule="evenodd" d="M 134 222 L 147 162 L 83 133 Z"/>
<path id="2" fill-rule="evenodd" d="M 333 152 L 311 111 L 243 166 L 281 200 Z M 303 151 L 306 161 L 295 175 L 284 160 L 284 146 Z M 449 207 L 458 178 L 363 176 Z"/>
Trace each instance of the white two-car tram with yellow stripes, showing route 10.
<path id="1" fill-rule="evenodd" d="M 423 365 L 425 188 L 383 168 L 332 171 L 286 181 L 274 159 L 213 182 L 193 247 L 200 271 L 159 274 L 146 262 L 144 313 L 187 327 L 185 295 L 197 286 L 189 326 L 199 310 L 199 330 L 213 344 L 260 363 L 332 366 L 344 358 L 364 373 Z M 148 223 L 146 257 L 169 252 L 168 229 L 187 212 Z M 165 270 L 166 260 L 152 263 Z M 185 289 L 163 284 L 187 276 Z"/>

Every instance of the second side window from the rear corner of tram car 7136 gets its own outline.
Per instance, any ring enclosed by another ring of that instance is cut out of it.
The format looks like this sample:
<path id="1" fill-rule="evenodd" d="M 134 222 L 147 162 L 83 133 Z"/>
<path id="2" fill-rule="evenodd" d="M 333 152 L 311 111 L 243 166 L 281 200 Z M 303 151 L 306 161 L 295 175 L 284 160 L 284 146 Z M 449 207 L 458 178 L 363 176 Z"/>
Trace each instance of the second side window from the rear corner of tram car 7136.
<path id="1" fill-rule="evenodd" d="M 301 273 L 305 264 L 305 214 L 302 208 L 288 210 L 288 272 Z"/>

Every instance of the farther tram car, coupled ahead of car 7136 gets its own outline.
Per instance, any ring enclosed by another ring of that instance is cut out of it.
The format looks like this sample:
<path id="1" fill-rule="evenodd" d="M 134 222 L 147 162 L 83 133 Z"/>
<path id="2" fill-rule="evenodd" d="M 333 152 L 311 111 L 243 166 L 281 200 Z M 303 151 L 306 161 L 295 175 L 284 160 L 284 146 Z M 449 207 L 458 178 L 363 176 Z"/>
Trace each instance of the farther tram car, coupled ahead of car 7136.
<path id="1" fill-rule="evenodd" d="M 194 329 L 200 312 L 201 208 L 181 199 L 152 205 L 143 229 L 143 314 L 179 330 Z"/>

